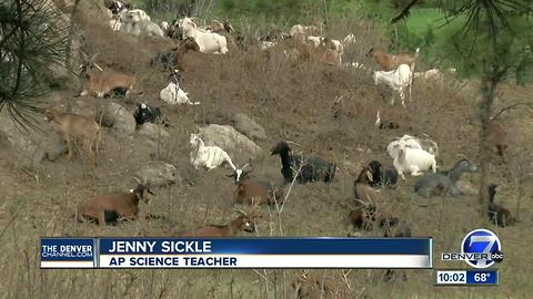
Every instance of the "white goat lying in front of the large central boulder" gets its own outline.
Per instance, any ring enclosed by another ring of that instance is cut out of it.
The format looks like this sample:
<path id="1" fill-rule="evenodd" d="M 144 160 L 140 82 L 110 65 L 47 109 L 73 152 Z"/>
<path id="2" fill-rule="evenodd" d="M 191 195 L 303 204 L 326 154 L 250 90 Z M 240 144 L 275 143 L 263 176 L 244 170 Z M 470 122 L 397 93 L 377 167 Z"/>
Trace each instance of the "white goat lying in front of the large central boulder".
<path id="1" fill-rule="evenodd" d="M 237 171 L 235 165 L 231 162 L 230 155 L 224 152 L 224 150 L 219 146 L 205 146 L 202 138 L 198 134 L 191 134 L 189 140 L 191 145 L 191 164 L 195 169 L 199 169 L 200 166 L 205 167 L 208 171 L 217 168 L 224 163 L 228 163 L 233 171 Z"/>

